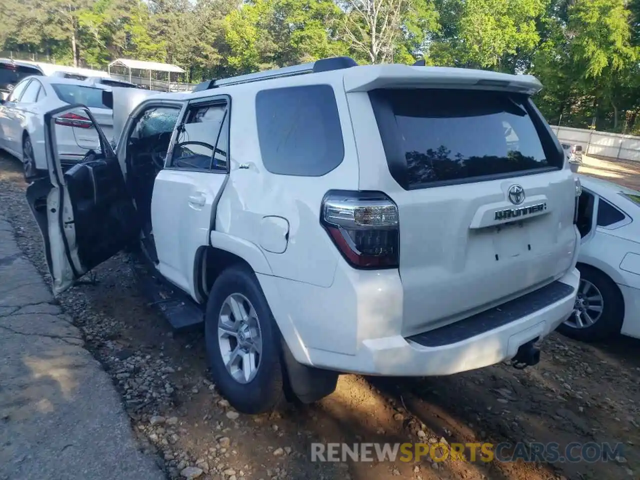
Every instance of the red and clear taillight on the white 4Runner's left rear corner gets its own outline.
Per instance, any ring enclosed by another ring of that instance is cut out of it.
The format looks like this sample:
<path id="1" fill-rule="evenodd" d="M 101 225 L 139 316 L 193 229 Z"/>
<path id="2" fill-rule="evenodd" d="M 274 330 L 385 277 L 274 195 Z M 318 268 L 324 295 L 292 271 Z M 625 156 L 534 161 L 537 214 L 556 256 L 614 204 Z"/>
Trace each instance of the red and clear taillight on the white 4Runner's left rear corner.
<path id="1" fill-rule="evenodd" d="M 398 209 L 378 192 L 329 191 L 320 221 L 342 256 L 355 268 L 397 268 Z"/>

